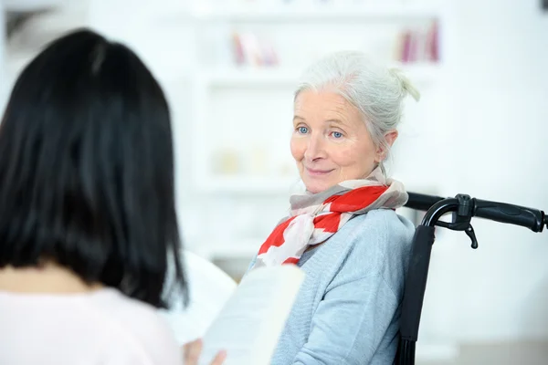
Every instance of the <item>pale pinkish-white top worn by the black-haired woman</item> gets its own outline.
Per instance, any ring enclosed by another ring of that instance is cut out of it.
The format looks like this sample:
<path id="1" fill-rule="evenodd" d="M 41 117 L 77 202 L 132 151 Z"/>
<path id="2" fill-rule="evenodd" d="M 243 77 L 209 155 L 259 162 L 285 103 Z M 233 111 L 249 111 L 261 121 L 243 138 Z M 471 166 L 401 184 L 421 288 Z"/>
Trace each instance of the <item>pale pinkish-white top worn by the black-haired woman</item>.
<path id="1" fill-rule="evenodd" d="M 104 288 L 79 294 L 0 291 L 2 365 L 181 365 L 152 306 Z"/>

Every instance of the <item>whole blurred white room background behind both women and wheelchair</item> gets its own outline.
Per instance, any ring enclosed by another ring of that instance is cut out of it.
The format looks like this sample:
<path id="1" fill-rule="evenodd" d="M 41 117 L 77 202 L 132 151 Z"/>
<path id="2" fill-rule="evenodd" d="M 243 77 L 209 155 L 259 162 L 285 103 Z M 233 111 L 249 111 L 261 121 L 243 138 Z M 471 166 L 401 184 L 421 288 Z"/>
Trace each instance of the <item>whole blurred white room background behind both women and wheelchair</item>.
<path id="1" fill-rule="evenodd" d="M 26 62 L 70 29 L 132 47 L 171 103 L 186 248 L 237 280 L 299 185 L 297 78 L 332 50 L 400 66 L 421 91 L 389 164 L 408 190 L 548 211 L 545 3 L 0 0 L 0 108 Z M 475 251 L 438 230 L 417 363 L 548 364 L 548 233 L 472 224 Z"/>

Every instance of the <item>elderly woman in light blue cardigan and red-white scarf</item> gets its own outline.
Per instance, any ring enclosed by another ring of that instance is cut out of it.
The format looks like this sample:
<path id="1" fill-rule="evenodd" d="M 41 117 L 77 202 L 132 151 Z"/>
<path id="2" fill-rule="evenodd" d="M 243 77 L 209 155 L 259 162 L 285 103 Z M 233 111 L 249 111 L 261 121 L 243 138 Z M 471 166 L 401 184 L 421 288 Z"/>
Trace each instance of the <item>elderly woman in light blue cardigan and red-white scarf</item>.
<path id="1" fill-rule="evenodd" d="M 385 176 L 404 99 L 395 69 L 358 52 L 320 59 L 295 93 L 290 149 L 306 192 L 260 247 L 251 270 L 307 274 L 272 364 L 390 364 L 414 226 L 395 214 L 402 183 Z"/>

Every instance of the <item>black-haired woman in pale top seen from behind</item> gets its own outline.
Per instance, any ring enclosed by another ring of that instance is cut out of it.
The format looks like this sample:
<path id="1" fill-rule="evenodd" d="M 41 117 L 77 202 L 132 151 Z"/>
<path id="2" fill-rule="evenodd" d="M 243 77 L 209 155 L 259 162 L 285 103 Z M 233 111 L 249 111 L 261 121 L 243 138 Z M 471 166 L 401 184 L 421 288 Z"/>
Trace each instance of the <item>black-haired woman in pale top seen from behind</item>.
<path id="1" fill-rule="evenodd" d="M 82 29 L 26 66 L 0 124 L 1 364 L 184 363 L 156 311 L 186 292 L 173 154 L 128 47 Z"/>

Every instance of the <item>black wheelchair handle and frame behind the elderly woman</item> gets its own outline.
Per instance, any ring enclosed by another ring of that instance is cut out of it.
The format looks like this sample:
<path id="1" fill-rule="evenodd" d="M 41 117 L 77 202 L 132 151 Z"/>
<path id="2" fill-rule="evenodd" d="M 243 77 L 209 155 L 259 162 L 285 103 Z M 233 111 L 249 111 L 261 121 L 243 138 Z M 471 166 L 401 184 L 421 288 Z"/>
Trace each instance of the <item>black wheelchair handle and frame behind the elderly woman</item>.
<path id="1" fill-rule="evenodd" d="M 473 217 L 488 219 L 502 224 L 520 225 L 532 232 L 543 232 L 548 228 L 548 215 L 510 203 L 490 202 L 457 194 L 453 198 L 442 198 L 421 193 L 409 193 L 407 208 L 424 211 L 426 214 L 416 227 L 413 238 L 413 253 L 409 262 L 402 303 L 399 344 L 395 365 L 414 365 L 416 340 L 427 287 L 428 266 L 436 226 L 454 231 L 464 231 L 471 240 L 471 247 L 478 248 L 478 240 L 470 224 Z M 440 221 L 444 214 L 452 214 L 449 222 Z"/>

